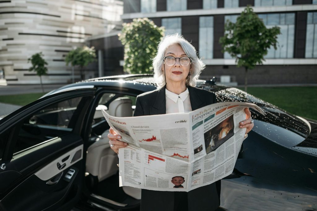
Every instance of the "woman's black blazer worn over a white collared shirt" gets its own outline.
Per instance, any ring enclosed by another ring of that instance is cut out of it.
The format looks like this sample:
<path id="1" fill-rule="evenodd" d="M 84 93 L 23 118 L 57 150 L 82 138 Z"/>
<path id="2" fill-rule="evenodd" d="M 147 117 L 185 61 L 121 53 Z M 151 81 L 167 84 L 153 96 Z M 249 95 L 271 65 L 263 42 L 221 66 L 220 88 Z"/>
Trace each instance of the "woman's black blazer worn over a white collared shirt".
<path id="1" fill-rule="evenodd" d="M 188 87 L 191 109 L 216 103 L 215 93 L 195 87 Z M 136 99 L 134 116 L 156 115 L 166 113 L 165 87 L 140 94 Z M 220 205 L 220 180 L 216 183 L 196 188 L 187 193 L 188 210 L 215 210 Z M 178 192 L 154 191 L 142 189 L 142 211 L 173 211 L 174 196 Z"/>

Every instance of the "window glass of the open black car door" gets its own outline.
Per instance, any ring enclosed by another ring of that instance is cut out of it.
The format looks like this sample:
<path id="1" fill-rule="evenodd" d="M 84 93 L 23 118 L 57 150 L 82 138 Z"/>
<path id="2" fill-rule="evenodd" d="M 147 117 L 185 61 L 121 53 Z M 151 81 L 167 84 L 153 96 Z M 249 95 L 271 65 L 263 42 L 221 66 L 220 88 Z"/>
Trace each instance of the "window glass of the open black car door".
<path id="1" fill-rule="evenodd" d="M 13 153 L 70 133 L 78 117 L 76 112 L 80 112 L 77 108 L 83 100 L 77 97 L 56 102 L 24 118 Z"/>

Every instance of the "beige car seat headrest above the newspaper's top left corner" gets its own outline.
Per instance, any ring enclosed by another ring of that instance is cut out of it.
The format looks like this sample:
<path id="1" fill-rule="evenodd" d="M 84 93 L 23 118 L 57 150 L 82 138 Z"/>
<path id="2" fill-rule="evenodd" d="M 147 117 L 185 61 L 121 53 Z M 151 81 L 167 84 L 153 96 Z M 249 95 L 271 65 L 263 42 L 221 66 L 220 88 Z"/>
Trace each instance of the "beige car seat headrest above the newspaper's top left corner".
<path id="1" fill-rule="evenodd" d="M 114 117 L 132 117 L 132 100 L 119 97 L 109 104 L 109 114 Z"/>

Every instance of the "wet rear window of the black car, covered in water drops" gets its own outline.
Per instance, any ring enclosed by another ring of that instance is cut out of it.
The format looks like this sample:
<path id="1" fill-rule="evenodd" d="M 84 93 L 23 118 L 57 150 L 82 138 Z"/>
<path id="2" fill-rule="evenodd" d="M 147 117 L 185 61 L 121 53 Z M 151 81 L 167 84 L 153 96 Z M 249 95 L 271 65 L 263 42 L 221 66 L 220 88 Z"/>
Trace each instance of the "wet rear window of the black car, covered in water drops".
<path id="1" fill-rule="evenodd" d="M 309 127 L 302 119 L 240 89 L 218 86 L 218 90 L 216 91 L 214 86 L 208 86 L 205 83 L 197 84 L 197 87 L 214 91 L 218 102 L 237 101 L 254 103 L 267 115 L 262 116 L 260 113 L 252 110 L 252 118 L 283 127 L 304 138 L 307 138 L 309 135 Z"/>

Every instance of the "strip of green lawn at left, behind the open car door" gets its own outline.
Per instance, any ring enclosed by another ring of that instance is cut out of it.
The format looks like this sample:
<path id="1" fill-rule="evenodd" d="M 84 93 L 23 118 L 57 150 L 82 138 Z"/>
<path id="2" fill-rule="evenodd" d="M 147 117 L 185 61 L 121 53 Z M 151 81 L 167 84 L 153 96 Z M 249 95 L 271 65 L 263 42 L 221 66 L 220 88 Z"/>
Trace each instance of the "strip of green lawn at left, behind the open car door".
<path id="1" fill-rule="evenodd" d="M 32 94 L 15 94 L 15 95 L 2 95 L 0 96 L 1 103 L 10 103 L 15 105 L 27 105 L 40 97 L 45 93 L 32 93 Z"/>

